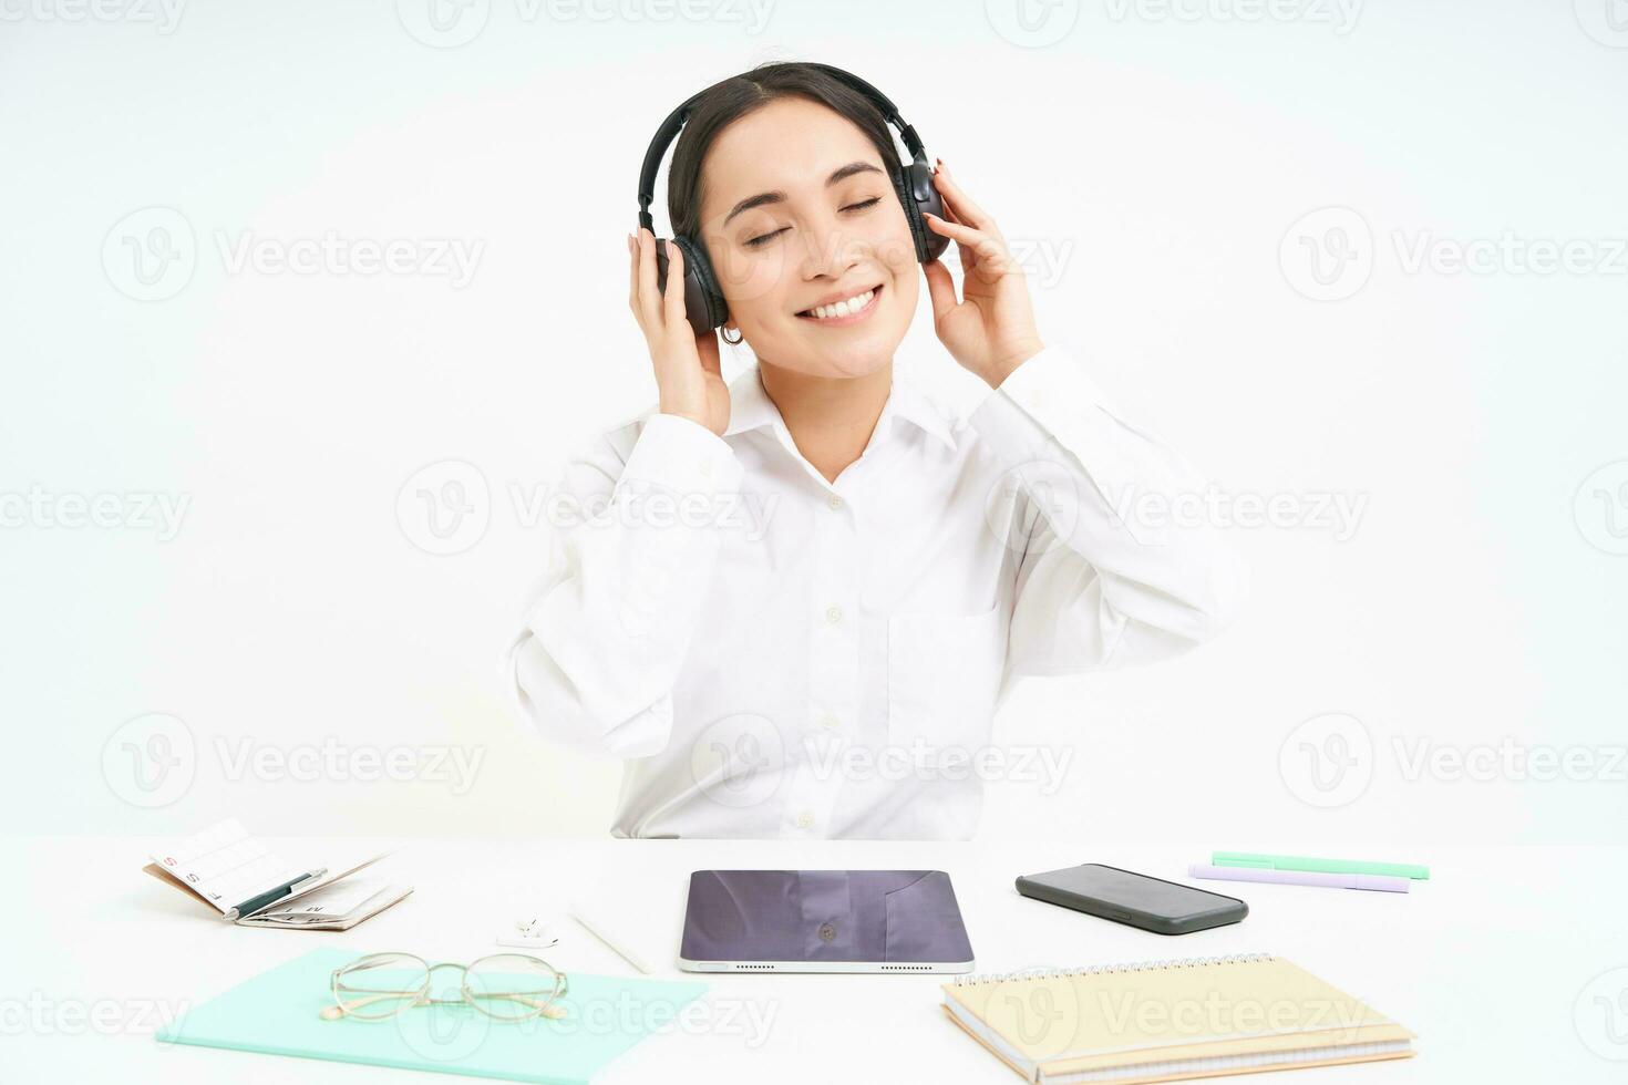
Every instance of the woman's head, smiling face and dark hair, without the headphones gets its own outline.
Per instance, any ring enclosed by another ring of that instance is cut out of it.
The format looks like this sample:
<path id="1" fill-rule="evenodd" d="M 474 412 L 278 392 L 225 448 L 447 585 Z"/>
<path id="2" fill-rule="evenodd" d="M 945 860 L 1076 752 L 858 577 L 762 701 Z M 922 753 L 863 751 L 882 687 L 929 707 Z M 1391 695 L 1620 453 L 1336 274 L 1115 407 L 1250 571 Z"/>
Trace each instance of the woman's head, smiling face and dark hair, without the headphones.
<path id="1" fill-rule="evenodd" d="M 728 312 L 726 333 L 744 337 L 760 364 L 786 376 L 877 374 L 915 312 L 918 257 L 947 244 L 920 215 L 912 221 L 915 200 L 900 190 L 910 179 L 876 99 L 897 112 L 835 68 L 770 65 L 752 75 L 710 88 L 684 117 L 667 174 L 674 236 L 703 265 L 702 280 Z M 943 210 L 925 155 L 913 166 L 921 207 Z M 822 333 L 837 329 L 851 332 Z M 879 407 L 876 384 L 860 387 Z"/>

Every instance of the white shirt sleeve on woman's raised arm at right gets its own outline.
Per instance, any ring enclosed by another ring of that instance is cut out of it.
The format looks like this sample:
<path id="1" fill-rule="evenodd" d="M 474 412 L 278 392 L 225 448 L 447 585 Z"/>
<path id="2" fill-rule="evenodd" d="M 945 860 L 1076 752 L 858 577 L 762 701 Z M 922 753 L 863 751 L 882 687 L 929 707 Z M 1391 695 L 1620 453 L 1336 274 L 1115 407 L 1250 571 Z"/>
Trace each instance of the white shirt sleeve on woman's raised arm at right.
<path id="1" fill-rule="evenodd" d="M 1237 615 L 1247 571 L 1201 514 L 1208 483 L 1047 346 L 969 418 L 1016 495 L 1009 675 L 1180 654 Z"/>

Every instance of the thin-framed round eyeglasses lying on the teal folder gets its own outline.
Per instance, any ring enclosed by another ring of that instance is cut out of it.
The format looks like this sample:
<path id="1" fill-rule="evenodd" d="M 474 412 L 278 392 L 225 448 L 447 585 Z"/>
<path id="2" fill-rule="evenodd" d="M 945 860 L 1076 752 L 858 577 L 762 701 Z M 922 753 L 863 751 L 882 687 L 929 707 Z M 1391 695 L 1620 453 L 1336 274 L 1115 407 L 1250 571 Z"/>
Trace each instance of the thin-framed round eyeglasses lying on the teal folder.
<path id="1" fill-rule="evenodd" d="M 441 968 L 464 973 L 459 997 L 430 997 L 430 981 Z M 412 953 L 368 953 L 335 968 L 329 986 L 334 1005 L 322 1009 L 324 1022 L 342 1017 L 379 1022 L 410 1007 L 466 1004 L 500 1022 L 565 1017 L 565 1007 L 555 1005 L 567 992 L 565 974 L 526 953 L 495 953 L 472 965 L 430 965 Z"/>

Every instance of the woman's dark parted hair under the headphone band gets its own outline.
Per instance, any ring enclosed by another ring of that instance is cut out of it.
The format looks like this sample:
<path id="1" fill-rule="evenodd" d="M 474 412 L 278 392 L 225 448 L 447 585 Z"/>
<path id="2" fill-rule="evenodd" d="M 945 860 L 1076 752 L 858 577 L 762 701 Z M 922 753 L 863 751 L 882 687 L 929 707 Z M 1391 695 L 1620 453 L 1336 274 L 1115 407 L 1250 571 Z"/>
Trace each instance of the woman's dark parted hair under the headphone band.
<path id="1" fill-rule="evenodd" d="M 827 106 L 860 127 L 860 132 L 882 156 L 882 169 L 895 176 L 900 169 L 892 130 L 871 99 L 824 68 L 801 60 L 760 63 L 751 72 L 731 76 L 695 99 L 690 115 L 679 132 L 672 161 L 667 166 L 667 221 L 674 236 L 702 241 L 702 159 L 713 138 L 733 120 L 762 109 L 778 98 L 806 98 Z"/>

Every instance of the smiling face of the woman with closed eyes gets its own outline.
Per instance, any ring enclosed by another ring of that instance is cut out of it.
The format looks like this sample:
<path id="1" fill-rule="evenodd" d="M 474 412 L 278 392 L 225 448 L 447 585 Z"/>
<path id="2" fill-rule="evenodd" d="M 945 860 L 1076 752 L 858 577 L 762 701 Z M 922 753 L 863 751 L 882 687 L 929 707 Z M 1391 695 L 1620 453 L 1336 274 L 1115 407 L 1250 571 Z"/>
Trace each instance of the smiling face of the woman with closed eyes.
<path id="1" fill-rule="evenodd" d="M 882 158 L 850 120 L 781 98 L 731 122 L 702 161 L 700 218 L 731 322 L 759 359 L 817 377 L 892 361 L 920 265 Z M 847 316 L 814 312 L 855 296 Z"/>

